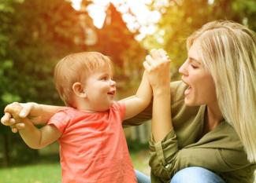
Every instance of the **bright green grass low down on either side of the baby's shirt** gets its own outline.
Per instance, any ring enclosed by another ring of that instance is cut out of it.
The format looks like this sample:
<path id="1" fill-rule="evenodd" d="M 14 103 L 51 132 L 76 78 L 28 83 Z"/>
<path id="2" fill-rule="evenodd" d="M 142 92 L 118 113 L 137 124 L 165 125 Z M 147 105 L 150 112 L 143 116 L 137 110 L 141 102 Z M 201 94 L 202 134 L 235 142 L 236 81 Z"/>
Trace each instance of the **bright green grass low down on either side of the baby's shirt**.
<path id="1" fill-rule="evenodd" d="M 131 152 L 135 169 L 149 174 L 146 150 Z M 45 159 L 41 157 L 42 159 Z M 0 183 L 59 183 L 61 182 L 61 166 L 58 162 L 33 163 L 24 166 L 0 168 Z"/>

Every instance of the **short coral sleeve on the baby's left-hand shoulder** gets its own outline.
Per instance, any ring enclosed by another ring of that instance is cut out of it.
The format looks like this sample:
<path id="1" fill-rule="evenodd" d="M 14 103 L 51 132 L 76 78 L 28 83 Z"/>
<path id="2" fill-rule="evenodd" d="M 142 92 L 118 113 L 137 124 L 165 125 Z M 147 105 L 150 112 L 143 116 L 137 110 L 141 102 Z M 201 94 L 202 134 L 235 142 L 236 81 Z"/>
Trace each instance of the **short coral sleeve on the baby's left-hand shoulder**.
<path id="1" fill-rule="evenodd" d="M 63 134 L 65 131 L 65 127 L 68 125 L 69 121 L 70 117 L 68 115 L 68 112 L 66 112 L 66 110 L 61 110 L 55 113 L 50 118 L 47 124 L 56 126 L 58 130 L 61 132 L 61 134 Z"/>

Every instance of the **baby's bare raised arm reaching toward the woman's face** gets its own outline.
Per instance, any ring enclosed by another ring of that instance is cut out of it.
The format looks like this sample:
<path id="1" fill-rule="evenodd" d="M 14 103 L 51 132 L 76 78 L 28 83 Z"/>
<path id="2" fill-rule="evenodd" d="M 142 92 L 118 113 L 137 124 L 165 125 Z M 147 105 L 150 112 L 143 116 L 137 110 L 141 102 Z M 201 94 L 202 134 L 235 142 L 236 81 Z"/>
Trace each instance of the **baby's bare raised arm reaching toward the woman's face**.
<path id="1" fill-rule="evenodd" d="M 130 119 L 133 116 L 142 112 L 150 104 L 152 98 L 152 90 L 150 83 L 147 80 L 147 72 L 144 71 L 143 79 L 140 82 L 139 89 L 135 96 L 125 98 L 125 116 L 124 119 Z"/>

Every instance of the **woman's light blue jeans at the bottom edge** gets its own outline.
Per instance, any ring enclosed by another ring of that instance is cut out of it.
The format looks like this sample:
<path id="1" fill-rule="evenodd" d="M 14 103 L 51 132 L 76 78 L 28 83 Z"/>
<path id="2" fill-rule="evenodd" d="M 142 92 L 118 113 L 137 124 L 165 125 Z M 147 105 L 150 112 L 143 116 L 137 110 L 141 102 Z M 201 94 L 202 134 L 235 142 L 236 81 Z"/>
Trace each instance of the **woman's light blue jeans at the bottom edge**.
<path id="1" fill-rule="evenodd" d="M 135 170 L 138 183 L 150 183 L 150 177 Z M 202 167 L 188 167 L 174 174 L 170 183 L 225 183 L 212 171 Z"/>

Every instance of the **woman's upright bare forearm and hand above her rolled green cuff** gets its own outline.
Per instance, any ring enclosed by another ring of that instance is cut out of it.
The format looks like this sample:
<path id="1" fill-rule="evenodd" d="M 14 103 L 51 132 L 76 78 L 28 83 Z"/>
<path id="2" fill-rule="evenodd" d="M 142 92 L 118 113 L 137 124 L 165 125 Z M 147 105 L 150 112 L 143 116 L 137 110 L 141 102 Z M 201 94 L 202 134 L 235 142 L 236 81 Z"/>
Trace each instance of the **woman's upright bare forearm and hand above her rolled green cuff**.
<path id="1" fill-rule="evenodd" d="M 170 107 L 169 58 L 162 49 L 154 50 L 144 64 L 153 90 L 152 134 L 154 141 L 161 141 L 173 129 Z"/>

